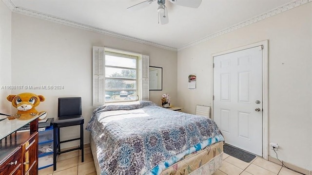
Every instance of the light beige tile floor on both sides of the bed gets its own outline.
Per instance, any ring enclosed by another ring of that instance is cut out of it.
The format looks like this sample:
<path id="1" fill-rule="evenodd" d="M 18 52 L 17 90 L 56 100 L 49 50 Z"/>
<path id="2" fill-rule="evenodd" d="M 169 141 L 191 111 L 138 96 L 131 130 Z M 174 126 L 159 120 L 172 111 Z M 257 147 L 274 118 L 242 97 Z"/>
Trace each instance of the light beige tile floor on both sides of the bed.
<path id="1" fill-rule="evenodd" d="M 84 148 L 84 162 L 81 162 L 81 152 L 71 151 L 59 155 L 57 171 L 53 166 L 39 170 L 39 175 L 97 175 L 91 148 Z M 235 157 L 223 154 L 222 167 L 213 175 L 300 175 L 276 163 L 256 157 L 246 163 Z"/>

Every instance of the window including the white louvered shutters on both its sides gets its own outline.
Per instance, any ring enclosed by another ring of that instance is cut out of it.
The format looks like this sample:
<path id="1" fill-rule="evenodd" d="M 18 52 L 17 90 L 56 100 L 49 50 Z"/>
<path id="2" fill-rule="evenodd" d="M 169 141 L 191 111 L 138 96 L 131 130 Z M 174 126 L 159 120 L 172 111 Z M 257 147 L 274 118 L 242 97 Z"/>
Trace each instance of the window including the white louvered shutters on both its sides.
<path id="1" fill-rule="evenodd" d="M 149 56 L 93 47 L 93 105 L 149 100 Z"/>

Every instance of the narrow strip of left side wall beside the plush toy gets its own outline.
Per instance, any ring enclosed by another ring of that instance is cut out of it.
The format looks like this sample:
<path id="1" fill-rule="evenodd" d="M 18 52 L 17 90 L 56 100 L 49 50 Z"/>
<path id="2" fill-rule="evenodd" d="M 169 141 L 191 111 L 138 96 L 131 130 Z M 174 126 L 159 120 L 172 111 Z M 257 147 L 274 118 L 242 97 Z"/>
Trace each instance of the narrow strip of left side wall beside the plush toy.
<path id="1" fill-rule="evenodd" d="M 0 113 L 11 114 L 11 103 L 6 97 L 11 90 L 11 18 L 12 12 L 0 0 Z"/>

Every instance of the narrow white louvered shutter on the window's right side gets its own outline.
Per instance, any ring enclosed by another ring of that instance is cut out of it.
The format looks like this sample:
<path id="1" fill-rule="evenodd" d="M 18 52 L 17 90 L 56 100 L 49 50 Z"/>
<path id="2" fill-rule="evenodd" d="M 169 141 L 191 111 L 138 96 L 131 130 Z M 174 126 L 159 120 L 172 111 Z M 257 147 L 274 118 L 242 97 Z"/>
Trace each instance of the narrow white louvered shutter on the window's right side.
<path id="1" fill-rule="evenodd" d="M 150 56 L 142 55 L 142 100 L 150 99 L 149 90 L 149 66 L 150 66 Z"/>

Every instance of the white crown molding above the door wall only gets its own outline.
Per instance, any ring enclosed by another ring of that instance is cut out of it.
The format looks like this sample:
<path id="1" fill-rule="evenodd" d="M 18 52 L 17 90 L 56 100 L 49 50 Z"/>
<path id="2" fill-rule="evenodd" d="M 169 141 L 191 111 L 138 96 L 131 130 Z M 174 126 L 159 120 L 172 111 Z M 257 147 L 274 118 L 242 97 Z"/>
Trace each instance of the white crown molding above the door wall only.
<path id="1" fill-rule="evenodd" d="M 223 34 L 227 34 L 227 33 L 232 32 L 234 30 L 237 30 L 237 29 L 240 29 L 242 27 L 248 26 L 250 24 L 256 23 L 256 22 L 261 21 L 263 19 L 270 18 L 270 17 L 272 17 L 274 15 L 280 14 L 282 12 L 285 12 L 287 10 L 290 10 L 292 8 L 298 7 L 300 5 L 303 5 L 303 4 L 306 4 L 306 3 L 309 3 L 309 2 L 312 2 L 312 0 L 293 0 L 292 2 L 289 2 L 289 3 L 286 3 L 284 5 L 281 5 L 281 6 L 277 7 L 277 8 L 274 8 L 273 10 L 270 10 L 268 12 L 260 14 L 260 15 L 258 15 L 256 17 L 247 19 L 247 20 L 242 21 L 242 22 L 240 22 L 238 24 L 235 24 L 235 25 L 233 25 L 231 27 L 228 27 L 228 28 L 223 29 L 221 31 L 215 32 L 212 35 L 205 36 L 202 39 L 199 39 L 197 41 L 194 41 L 194 42 L 191 42 L 189 44 L 186 44 L 186 45 L 178 48 L 177 51 L 182 51 L 182 50 L 187 49 L 189 47 L 192 47 L 192 46 L 198 45 L 200 43 L 203 43 L 205 41 L 211 40 L 211 39 L 213 39 L 213 38 L 215 38 L 217 36 L 220 36 L 220 35 L 223 35 Z"/>

